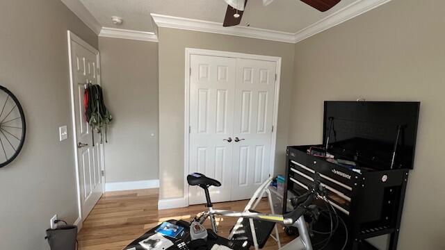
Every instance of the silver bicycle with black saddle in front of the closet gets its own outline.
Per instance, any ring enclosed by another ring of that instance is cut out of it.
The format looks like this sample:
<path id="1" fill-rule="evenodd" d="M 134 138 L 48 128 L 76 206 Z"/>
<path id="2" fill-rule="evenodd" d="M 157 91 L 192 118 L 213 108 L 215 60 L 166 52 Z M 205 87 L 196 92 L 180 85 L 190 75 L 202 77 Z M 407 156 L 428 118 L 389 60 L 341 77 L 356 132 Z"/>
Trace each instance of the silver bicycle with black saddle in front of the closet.
<path id="1" fill-rule="evenodd" d="M 236 238 L 236 235 L 239 233 L 238 231 L 239 228 L 250 227 L 251 239 L 249 240 L 253 243 L 254 248 L 256 250 L 264 247 L 264 244 L 266 243 L 268 237 L 270 236 L 272 229 L 269 228 L 268 230 L 266 230 L 270 232 L 266 233 L 266 235 L 264 235 L 263 238 L 258 239 L 257 229 L 255 229 L 255 222 L 257 222 L 257 224 L 259 222 L 270 222 L 273 224 L 273 228 L 275 229 L 275 237 L 273 236 L 272 237 L 274 238 L 274 240 L 277 241 L 280 250 L 313 250 L 304 215 L 307 213 L 314 213 L 313 209 L 314 207 L 312 206 L 312 204 L 316 199 L 323 199 L 324 201 L 327 201 L 325 188 L 323 187 L 323 185 L 321 185 L 319 181 L 315 181 L 314 184 L 309 187 L 309 189 L 305 194 L 302 194 L 300 197 L 291 199 L 291 203 L 295 209 L 293 209 L 290 213 L 286 213 L 284 215 L 274 214 L 275 212 L 273 210 L 273 205 L 271 203 L 271 193 L 270 190 L 268 189 L 268 186 L 273 181 L 272 177 L 269 177 L 263 184 L 259 186 L 259 188 L 254 192 L 252 198 L 248 202 L 248 205 L 245 207 L 245 210 L 242 212 L 213 209 L 213 204 L 211 203 L 209 194 L 209 187 L 211 186 L 220 187 L 221 183 L 219 181 L 216 181 L 200 173 L 189 174 L 187 176 L 187 181 L 189 185 L 196 185 L 204 189 L 207 201 L 206 206 L 209 209 L 207 212 L 203 212 L 200 216 L 195 217 L 192 220 L 192 222 L 198 222 L 200 224 L 204 224 L 207 218 L 209 218 L 211 221 L 212 231 L 214 233 L 218 233 L 215 215 L 221 215 L 225 217 L 238 217 L 238 222 L 236 222 L 228 239 L 232 240 Z M 267 194 L 268 196 L 272 214 L 257 213 L 251 210 L 254 209 L 259 204 L 259 201 L 261 201 L 261 199 L 264 197 L 264 194 Z M 338 216 L 337 219 L 339 219 Z M 292 240 L 284 247 L 281 247 L 276 224 L 284 224 L 284 226 L 287 227 L 292 226 L 294 228 L 297 228 L 298 233 L 300 234 L 299 237 L 296 238 L 295 240 Z M 257 226 L 257 228 L 259 227 Z M 331 229 L 332 229 L 332 217 L 331 217 Z M 246 242 L 245 245 L 247 246 L 248 240 L 246 240 L 245 242 Z M 346 242 L 345 245 L 343 246 L 343 249 L 346 247 Z"/>

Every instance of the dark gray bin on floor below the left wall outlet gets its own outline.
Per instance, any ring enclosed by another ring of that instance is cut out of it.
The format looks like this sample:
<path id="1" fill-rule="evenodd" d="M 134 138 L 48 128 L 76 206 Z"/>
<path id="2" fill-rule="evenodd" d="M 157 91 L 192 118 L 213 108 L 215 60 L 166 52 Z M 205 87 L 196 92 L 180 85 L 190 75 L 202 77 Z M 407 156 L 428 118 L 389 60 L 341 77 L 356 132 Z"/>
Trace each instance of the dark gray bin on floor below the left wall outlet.
<path id="1" fill-rule="evenodd" d="M 77 226 L 58 226 L 47 229 L 47 237 L 51 250 L 76 250 Z"/>

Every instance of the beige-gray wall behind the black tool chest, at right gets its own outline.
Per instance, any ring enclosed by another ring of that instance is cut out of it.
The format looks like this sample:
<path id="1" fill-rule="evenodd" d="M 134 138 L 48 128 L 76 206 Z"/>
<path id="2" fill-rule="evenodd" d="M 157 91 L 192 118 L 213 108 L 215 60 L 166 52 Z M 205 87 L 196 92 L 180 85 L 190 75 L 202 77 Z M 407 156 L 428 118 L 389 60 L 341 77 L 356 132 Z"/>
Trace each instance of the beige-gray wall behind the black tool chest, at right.
<path id="1" fill-rule="evenodd" d="M 291 144 L 321 142 L 325 100 L 421 101 L 403 250 L 445 249 L 444 10 L 442 0 L 393 0 L 296 44 Z"/>

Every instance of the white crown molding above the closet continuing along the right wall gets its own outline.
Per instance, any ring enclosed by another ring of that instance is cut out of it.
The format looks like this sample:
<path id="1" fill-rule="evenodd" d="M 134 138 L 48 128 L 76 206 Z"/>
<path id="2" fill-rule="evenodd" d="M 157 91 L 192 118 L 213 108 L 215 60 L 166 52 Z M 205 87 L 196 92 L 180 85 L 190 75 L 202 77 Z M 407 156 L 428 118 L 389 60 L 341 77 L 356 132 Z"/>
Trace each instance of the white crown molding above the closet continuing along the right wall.
<path id="1" fill-rule="evenodd" d="M 362 15 L 373 8 L 377 8 L 382 4 L 388 3 L 391 0 L 357 0 L 350 3 L 348 6 L 333 12 L 331 15 L 321 19 L 320 21 L 302 28 L 296 33 L 273 31 L 264 28 L 253 28 L 247 26 L 232 26 L 223 27 L 223 24 L 218 22 L 209 22 L 198 19 L 189 19 L 184 17 L 172 17 L 168 15 L 159 15 L 152 13 L 152 21 L 157 33 L 158 27 L 165 28 L 179 28 L 188 31 L 201 31 L 208 33 L 217 33 L 223 35 L 236 35 L 245 38 L 257 38 L 263 40 L 273 40 L 278 42 L 296 43 L 306 38 L 312 37 L 321 33 L 322 31 L 337 26 L 343 22 L 348 21 L 358 15 Z"/>

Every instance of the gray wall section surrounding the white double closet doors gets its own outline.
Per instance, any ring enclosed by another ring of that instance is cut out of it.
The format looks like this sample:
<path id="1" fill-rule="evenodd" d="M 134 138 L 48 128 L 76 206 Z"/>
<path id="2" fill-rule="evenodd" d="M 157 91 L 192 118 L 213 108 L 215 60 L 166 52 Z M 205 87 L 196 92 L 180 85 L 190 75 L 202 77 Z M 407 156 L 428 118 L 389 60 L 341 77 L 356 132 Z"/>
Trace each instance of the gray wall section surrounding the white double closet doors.
<path id="1" fill-rule="evenodd" d="M 185 48 L 213 49 L 282 57 L 275 172 L 284 172 L 291 106 L 294 44 L 174 28 L 159 28 L 160 198 L 184 195 Z"/>

